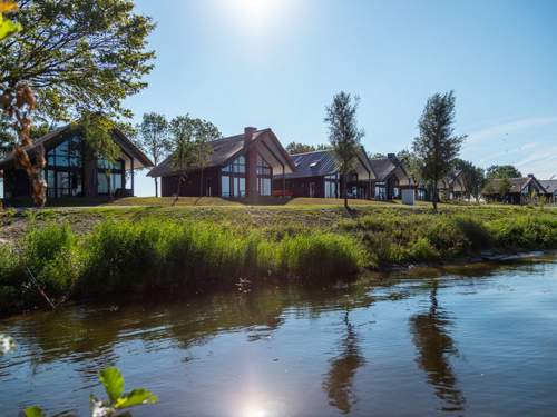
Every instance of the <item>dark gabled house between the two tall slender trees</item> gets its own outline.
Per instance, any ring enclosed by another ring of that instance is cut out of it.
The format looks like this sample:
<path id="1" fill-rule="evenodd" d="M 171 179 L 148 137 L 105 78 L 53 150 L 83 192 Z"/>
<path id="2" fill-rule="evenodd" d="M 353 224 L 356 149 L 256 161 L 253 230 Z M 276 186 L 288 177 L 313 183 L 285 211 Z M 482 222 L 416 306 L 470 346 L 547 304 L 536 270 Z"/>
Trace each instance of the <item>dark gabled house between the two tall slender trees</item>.
<path id="1" fill-rule="evenodd" d="M 377 200 L 399 199 L 402 189 L 413 188 L 411 178 L 394 153 L 389 153 L 387 158 L 371 159 L 370 162 L 375 173 L 372 197 Z"/>

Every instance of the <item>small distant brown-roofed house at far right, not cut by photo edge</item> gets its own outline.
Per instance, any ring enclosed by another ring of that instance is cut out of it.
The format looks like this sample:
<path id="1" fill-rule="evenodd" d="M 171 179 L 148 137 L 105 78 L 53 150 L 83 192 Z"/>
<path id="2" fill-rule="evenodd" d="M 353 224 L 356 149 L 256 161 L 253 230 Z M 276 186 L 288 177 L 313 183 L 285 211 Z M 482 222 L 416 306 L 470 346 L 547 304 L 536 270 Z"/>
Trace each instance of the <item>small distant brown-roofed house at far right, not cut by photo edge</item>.
<path id="1" fill-rule="evenodd" d="M 492 179 L 482 190 L 482 196 L 489 201 L 510 205 L 526 205 L 545 197 L 544 186 L 531 173 L 525 178 Z"/>

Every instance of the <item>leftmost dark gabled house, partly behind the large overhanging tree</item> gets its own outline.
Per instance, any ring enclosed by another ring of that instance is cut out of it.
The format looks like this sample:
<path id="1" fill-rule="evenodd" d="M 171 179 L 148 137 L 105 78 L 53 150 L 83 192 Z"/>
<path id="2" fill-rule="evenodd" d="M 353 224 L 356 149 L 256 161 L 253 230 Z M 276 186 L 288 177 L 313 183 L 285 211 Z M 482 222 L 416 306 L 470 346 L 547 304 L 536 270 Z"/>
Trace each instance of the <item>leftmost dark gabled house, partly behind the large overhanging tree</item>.
<path id="1" fill-rule="evenodd" d="M 87 147 L 79 127 L 68 125 L 37 139 L 27 151 L 45 149 L 48 199 L 70 197 L 125 197 L 134 196 L 134 171 L 153 167 L 153 162 L 121 131 L 115 129 L 113 138 L 120 155 L 117 160 L 98 158 Z M 29 180 L 25 170 L 16 166 L 13 153 L 0 161 L 3 176 L 3 198 L 27 200 Z"/>

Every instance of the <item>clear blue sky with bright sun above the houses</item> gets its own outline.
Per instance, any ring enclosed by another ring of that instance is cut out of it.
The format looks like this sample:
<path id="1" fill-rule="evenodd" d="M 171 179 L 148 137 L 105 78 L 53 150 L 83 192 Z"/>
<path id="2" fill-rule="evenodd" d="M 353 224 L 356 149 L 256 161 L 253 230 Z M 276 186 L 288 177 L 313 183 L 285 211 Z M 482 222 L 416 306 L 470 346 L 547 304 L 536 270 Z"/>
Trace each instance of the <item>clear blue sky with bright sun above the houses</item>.
<path id="1" fill-rule="evenodd" d="M 361 98 L 371 152 L 409 148 L 429 96 L 455 90 L 462 157 L 557 173 L 557 1 L 137 0 L 157 22 L 144 112 L 190 113 L 235 135 L 326 141 L 324 107 Z M 137 195 L 154 195 L 138 175 Z"/>

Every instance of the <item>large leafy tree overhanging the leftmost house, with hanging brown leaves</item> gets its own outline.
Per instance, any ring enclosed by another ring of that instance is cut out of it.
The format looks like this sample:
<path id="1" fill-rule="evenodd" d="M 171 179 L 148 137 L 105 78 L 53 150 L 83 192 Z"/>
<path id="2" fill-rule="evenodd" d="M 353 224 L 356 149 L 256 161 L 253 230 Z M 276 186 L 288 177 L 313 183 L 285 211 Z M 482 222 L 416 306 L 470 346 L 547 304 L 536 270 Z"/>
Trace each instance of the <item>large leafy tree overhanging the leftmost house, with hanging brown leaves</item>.
<path id="1" fill-rule="evenodd" d="M 134 12 L 131 0 L 21 0 L 17 20 L 20 31 L 0 42 L 1 105 L 17 137 L 17 163 L 42 206 L 43 149 L 26 150 L 33 143 L 31 113 L 50 122 L 88 118 L 88 126 L 130 117 L 123 101 L 146 87 L 141 78 L 154 53 L 145 49 L 154 24 Z M 111 149 L 105 155 L 98 143 L 89 146 L 108 157 Z"/>

